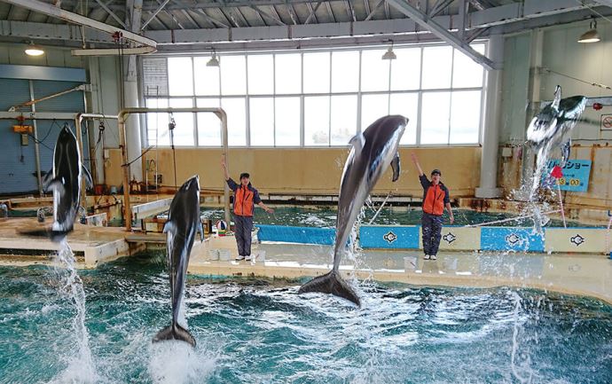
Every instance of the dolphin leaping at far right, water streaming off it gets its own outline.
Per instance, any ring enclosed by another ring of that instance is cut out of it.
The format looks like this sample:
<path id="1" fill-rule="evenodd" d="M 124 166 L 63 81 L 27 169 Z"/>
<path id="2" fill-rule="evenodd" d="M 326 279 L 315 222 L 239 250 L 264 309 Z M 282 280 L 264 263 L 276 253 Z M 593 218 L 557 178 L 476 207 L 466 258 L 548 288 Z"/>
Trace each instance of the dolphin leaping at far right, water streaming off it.
<path id="1" fill-rule="evenodd" d="M 527 143 L 537 149 L 538 162 L 544 162 L 545 153 L 561 145 L 561 167 L 565 165 L 571 148 L 569 132 L 585 112 L 585 106 L 585 96 L 561 98 L 561 86 L 557 85 L 553 102 L 542 108 L 527 127 Z"/>

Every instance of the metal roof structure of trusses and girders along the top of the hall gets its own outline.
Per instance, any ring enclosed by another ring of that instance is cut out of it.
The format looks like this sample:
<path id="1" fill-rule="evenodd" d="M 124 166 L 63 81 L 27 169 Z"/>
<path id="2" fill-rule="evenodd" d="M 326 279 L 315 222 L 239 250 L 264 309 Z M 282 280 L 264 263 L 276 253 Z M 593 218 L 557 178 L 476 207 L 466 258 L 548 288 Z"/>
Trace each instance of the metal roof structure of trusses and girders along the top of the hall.
<path id="1" fill-rule="evenodd" d="M 0 0 L 0 40 L 105 48 L 113 46 L 116 29 L 155 41 L 158 51 L 389 40 L 443 40 L 469 50 L 481 36 L 609 14 L 612 0 Z"/>

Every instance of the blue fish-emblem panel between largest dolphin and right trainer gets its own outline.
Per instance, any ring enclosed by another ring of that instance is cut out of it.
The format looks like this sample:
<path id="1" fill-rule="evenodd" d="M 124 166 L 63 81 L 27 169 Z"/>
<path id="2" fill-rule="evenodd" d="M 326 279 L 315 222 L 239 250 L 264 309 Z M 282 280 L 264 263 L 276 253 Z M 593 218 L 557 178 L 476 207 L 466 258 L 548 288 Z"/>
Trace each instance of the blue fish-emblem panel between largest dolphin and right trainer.
<path id="1" fill-rule="evenodd" d="M 378 226 L 359 227 L 359 245 L 362 248 L 419 249 L 419 226 Z"/>

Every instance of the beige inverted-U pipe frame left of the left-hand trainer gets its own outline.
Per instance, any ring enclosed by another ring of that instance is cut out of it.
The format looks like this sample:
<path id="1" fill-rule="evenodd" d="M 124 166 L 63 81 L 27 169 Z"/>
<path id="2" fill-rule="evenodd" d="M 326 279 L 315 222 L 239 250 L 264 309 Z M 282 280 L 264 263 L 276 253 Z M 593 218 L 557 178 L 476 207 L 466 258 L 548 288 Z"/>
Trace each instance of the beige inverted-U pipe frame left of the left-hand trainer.
<path id="1" fill-rule="evenodd" d="M 123 168 L 123 217 L 125 218 L 125 230 L 132 230 L 132 212 L 129 204 L 129 164 L 128 159 L 128 148 L 126 143 L 126 130 L 125 130 L 125 116 L 128 114 L 148 114 L 148 113 L 196 113 L 196 112 L 208 112 L 213 113 L 216 117 L 221 120 L 223 129 L 223 144 L 224 144 L 224 155 L 227 160 L 227 114 L 222 108 L 202 108 L 202 107 L 190 107 L 190 108 L 146 108 L 146 107 L 131 107 L 123 108 L 118 114 L 118 125 L 119 125 L 119 146 L 122 149 L 122 168 Z M 224 197 L 225 197 L 225 220 L 230 223 L 230 187 L 225 183 Z"/>

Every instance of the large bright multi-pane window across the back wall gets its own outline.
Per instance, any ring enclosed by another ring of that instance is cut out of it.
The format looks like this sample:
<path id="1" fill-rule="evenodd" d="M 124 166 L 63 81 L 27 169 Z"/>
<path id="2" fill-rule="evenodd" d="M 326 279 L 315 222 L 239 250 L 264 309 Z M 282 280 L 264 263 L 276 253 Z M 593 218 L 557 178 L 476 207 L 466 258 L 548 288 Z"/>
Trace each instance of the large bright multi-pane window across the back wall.
<path id="1" fill-rule="evenodd" d="M 207 66 L 209 56 L 145 58 L 154 60 L 144 66 L 146 106 L 221 106 L 231 146 L 348 145 L 387 114 L 409 119 L 402 145 L 478 144 L 483 67 L 451 46 L 396 46 L 393 60 L 382 59 L 386 50 L 228 53 L 219 67 Z M 160 73 L 167 94 L 147 86 Z M 221 145 L 214 114 L 173 117 L 175 145 Z M 168 114 L 147 115 L 149 145 L 170 145 L 168 122 Z"/>

